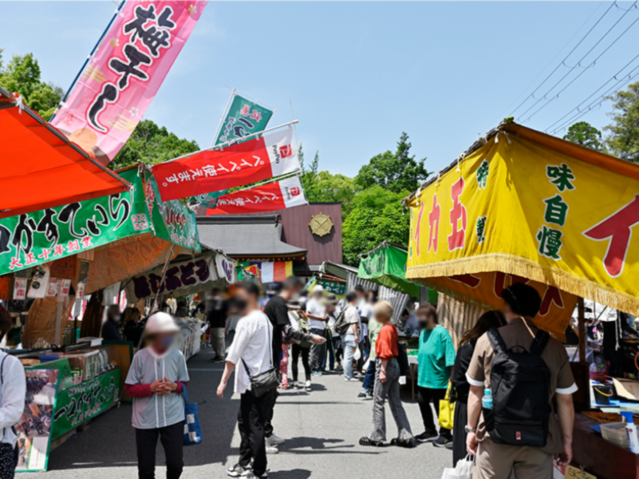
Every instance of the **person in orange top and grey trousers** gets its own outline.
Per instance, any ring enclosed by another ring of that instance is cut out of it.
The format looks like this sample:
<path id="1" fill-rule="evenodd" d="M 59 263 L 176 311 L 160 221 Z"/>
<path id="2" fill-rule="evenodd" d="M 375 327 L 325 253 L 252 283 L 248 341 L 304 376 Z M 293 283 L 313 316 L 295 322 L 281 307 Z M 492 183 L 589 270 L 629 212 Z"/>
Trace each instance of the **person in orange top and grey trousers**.
<path id="1" fill-rule="evenodd" d="M 362 446 L 382 446 L 386 441 L 386 419 L 384 400 L 389 400 L 390 412 L 397 424 L 397 437 L 390 444 L 404 448 L 415 447 L 415 438 L 410 430 L 406 411 L 399 397 L 399 363 L 397 356 L 397 327 L 391 324 L 393 307 L 388 301 L 376 302 L 373 313 L 383 326 L 375 343 L 376 375 L 373 391 L 373 428 L 368 437 L 362 437 Z"/>

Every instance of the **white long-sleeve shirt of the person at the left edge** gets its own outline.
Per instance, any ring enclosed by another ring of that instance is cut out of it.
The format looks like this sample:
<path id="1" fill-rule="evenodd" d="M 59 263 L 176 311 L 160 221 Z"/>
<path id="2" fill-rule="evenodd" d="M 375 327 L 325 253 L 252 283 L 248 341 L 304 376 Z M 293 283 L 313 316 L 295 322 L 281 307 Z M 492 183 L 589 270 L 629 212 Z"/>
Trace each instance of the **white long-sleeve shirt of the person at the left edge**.
<path id="1" fill-rule="evenodd" d="M 6 357 L 6 359 L 4 359 Z M 24 398 L 27 395 L 27 382 L 24 367 L 17 357 L 0 351 L 2 366 L 2 385 L 0 386 L 0 430 L 4 431 L 0 442 L 15 446 L 18 437 L 12 427 L 19 423 L 24 412 Z M 2 433 L 0 433 L 2 434 Z"/>

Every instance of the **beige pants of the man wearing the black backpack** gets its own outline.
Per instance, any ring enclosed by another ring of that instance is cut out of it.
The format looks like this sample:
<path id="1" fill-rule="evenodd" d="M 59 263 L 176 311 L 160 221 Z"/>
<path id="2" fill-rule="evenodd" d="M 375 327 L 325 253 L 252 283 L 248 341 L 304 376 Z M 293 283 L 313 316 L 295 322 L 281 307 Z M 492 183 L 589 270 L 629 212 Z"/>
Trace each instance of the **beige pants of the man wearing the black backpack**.
<path id="1" fill-rule="evenodd" d="M 550 479 L 552 476 L 553 455 L 541 448 L 495 444 L 488 438 L 479 443 L 473 479 Z"/>

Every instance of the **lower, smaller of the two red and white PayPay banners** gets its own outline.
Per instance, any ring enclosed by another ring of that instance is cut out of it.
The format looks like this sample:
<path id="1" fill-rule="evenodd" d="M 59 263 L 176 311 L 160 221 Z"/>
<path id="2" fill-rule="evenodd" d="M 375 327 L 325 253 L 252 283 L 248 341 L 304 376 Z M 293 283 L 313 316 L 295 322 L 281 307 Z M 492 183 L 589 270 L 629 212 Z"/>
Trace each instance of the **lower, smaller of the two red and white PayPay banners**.
<path id="1" fill-rule="evenodd" d="M 217 208 L 208 208 L 206 215 L 256 213 L 305 205 L 306 198 L 300 177 L 225 194 L 217 199 Z"/>

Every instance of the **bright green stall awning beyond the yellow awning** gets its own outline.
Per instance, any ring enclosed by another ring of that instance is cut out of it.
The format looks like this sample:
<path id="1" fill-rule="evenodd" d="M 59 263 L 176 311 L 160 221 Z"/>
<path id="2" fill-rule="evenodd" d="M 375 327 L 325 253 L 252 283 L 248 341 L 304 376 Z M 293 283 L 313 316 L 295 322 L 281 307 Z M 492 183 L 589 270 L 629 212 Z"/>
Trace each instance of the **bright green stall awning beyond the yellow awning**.
<path id="1" fill-rule="evenodd" d="M 408 251 L 387 241 L 360 256 L 357 276 L 419 298 L 420 285 L 406 279 Z"/>

